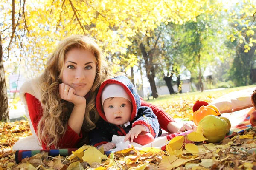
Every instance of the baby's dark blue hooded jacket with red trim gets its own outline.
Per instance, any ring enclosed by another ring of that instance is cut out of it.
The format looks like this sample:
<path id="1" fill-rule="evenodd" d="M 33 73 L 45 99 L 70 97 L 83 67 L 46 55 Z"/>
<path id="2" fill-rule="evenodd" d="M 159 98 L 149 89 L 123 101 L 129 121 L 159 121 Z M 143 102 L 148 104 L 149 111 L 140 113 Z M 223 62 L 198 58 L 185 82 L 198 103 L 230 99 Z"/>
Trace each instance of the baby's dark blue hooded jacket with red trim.
<path id="1" fill-rule="evenodd" d="M 102 90 L 108 84 L 118 84 L 125 89 L 132 102 L 130 125 L 127 127 L 121 127 L 120 125 L 114 125 L 107 121 L 105 113 L 102 108 L 101 96 Z M 89 132 L 90 145 L 95 147 L 111 142 L 112 136 L 125 136 L 132 127 L 135 125 L 145 125 L 150 127 L 151 134 L 156 138 L 161 136 L 162 130 L 157 120 L 157 116 L 153 113 L 152 109 L 146 106 L 140 106 L 140 96 L 137 94 L 134 85 L 125 76 L 118 76 L 112 79 L 108 79 L 102 83 L 99 88 L 99 92 L 96 96 L 96 108 L 101 116 L 101 119 L 96 123 L 96 128 Z M 144 116 L 145 117 L 144 117 Z M 145 119 L 146 118 L 146 119 Z M 149 126 L 148 126 L 149 123 Z"/>

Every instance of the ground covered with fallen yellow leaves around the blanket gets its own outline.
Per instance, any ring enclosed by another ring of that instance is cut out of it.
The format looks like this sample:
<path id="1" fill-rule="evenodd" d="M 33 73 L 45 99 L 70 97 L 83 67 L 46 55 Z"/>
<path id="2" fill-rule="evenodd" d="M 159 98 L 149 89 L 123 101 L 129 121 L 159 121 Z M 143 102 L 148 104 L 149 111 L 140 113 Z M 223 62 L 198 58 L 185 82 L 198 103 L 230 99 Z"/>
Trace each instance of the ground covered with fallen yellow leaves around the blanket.
<path id="1" fill-rule="evenodd" d="M 155 105 L 162 107 L 167 113 L 175 118 L 185 119 L 192 114 L 192 106 L 196 100 L 211 102 L 214 99 L 227 94 L 225 91 L 179 94 L 176 96 L 163 96 L 155 101 Z M 23 170 L 83 170 L 83 169 L 256 169 L 256 146 L 255 128 L 245 131 L 244 134 L 234 134 L 232 139 L 224 139 L 218 144 L 194 142 L 197 148 L 189 149 L 182 145 L 177 151 L 160 151 L 151 148 L 135 150 L 134 148 L 122 150 L 108 157 L 96 154 L 94 147 L 88 147 L 83 153 L 77 151 L 73 157 L 51 158 L 47 153 L 37 154 L 32 158 L 23 159 L 22 163 L 15 163 L 12 145 L 21 137 L 31 135 L 28 121 L 11 123 L 0 122 L 0 170 L 23 169 Z M 186 139 L 186 138 L 185 138 Z M 173 141 L 172 141 L 173 142 Z M 198 150 L 198 153 L 194 152 Z M 100 151 L 99 151 L 100 152 Z M 90 157 L 87 158 L 86 156 Z M 99 161 L 99 157 L 102 161 Z M 93 162 L 98 160 L 99 162 Z M 90 162 L 90 163 L 89 163 Z M 89 164 L 88 164 L 89 163 Z M 90 166 L 89 166 L 90 165 Z"/>

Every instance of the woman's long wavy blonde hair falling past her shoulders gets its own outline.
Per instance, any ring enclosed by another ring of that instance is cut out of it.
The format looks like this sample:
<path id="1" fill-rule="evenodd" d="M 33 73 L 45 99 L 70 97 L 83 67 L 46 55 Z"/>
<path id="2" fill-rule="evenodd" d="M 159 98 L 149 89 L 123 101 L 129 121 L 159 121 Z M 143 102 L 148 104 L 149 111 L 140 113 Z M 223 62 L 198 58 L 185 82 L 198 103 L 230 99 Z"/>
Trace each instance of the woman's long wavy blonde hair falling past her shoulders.
<path id="1" fill-rule="evenodd" d="M 58 142 L 67 131 L 68 119 L 73 109 L 73 104 L 62 100 L 58 91 L 64 69 L 64 59 L 67 52 L 73 48 L 90 51 L 96 58 L 96 77 L 89 92 L 82 125 L 82 132 L 85 134 L 84 141 L 87 140 L 86 133 L 95 128 L 95 123 L 99 119 L 95 107 L 96 95 L 102 82 L 111 77 L 108 62 L 97 44 L 98 41 L 92 37 L 74 35 L 61 40 L 49 57 L 41 85 L 43 116 L 37 127 L 38 139 L 44 142 L 47 148 L 61 147 Z"/>

